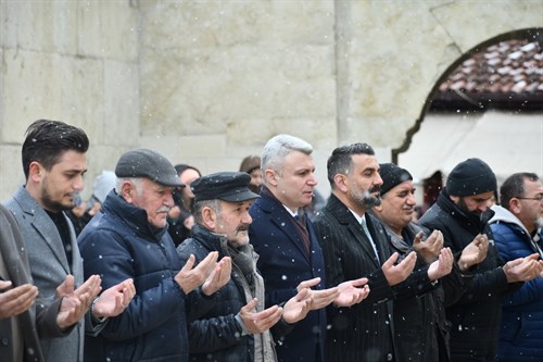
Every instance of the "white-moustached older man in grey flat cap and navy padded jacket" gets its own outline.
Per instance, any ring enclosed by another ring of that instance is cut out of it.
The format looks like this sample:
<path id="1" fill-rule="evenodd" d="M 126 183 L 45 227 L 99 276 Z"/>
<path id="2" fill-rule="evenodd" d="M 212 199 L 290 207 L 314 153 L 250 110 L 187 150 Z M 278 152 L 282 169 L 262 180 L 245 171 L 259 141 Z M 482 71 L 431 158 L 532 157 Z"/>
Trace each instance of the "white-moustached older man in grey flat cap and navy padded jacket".
<path id="1" fill-rule="evenodd" d="M 181 264 L 166 215 L 173 189 L 184 185 L 163 155 L 128 151 L 115 175 L 115 189 L 78 242 L 86 275 L 100 275 L 104 288 L 132 278 L 136 296 L 98 337 L 87 339 L 86 361 L 187 361 L 187 296 L 212 296 L 227 282 L 220 271 L 229 274 L 228 262 L 217 264 L 217 253 L 211 252 L 195 267 L 194 257 Z"/>

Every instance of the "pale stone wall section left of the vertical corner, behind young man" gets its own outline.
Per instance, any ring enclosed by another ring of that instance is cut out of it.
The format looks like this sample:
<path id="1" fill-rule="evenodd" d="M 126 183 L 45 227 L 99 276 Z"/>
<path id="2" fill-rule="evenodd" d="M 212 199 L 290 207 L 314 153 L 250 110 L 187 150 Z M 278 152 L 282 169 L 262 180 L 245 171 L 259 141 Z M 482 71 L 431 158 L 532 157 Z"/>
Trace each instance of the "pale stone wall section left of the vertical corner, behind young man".
<path id="1" fill-rule="evenodd" d="M 129 1 L 0 1 L 0 200 L 24 183 L 35 120 L 84 128 L 87 190 L 139 142 L 139 10 Z"/>

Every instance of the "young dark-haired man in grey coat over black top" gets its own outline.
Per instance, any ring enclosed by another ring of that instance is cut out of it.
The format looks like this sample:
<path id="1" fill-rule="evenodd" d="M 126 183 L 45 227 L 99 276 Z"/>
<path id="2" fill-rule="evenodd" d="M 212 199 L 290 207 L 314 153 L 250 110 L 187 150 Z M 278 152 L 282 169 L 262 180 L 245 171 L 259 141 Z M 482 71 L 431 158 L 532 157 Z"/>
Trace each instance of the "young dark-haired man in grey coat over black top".
<path id="1" fill-rule="evenodd" d="M 96 298 L 100 277 L 93 275 L 84 283 L 74 227 L 64 211 L 74 207 L 76 192 L 84 188 L 88 146 L 87 135 L 79 128 L 55 121 L 34 122 L 22 148 L 26 184 L 5 207 L 21 226 L 39 297 L 77 299 L 81 305 L 72 324 L 85 315 L 89 333 L 99 333 L 109 316 L 123 312 L 135 290 L 131 280 L 124 280 Z M 89 307 L 90 312 L 85 313 Z M 40 337 L 45 360 L 81 361 L 85 323 L 62 327 L 72 327 L 63 338 Z"/>

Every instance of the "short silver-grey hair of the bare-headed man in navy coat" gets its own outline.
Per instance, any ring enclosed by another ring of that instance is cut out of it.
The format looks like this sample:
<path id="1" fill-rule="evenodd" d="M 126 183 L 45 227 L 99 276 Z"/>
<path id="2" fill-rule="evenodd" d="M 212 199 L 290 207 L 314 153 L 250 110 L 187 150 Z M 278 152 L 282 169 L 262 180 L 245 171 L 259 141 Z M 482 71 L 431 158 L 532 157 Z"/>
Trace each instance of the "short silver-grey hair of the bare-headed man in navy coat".
<path id="1" fill-rule="evenodd" d="M 311 154 L 313 152 L 313 146 L 301 138 L 290 135 L 277 135 L 270 138 L 262 151 L 262 171 L 264 172 L 270 168 L 281 174 L 285 157 L 294 151 Z"/>

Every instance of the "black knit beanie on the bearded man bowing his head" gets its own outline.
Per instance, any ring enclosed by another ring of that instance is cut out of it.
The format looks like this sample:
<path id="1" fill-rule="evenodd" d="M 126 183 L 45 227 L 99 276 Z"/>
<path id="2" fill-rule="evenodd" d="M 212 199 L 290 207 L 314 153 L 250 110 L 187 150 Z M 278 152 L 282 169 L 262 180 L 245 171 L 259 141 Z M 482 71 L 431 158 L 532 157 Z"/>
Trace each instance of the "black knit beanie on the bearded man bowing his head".
<path id="1" fill-rule="evenodd" d="M 446 179 L 446 191 L 453 196 L 479 195 L 495 191 L 496 188 L 494 172 L 479 159 L 467 159 L 458 163 Z"/>

